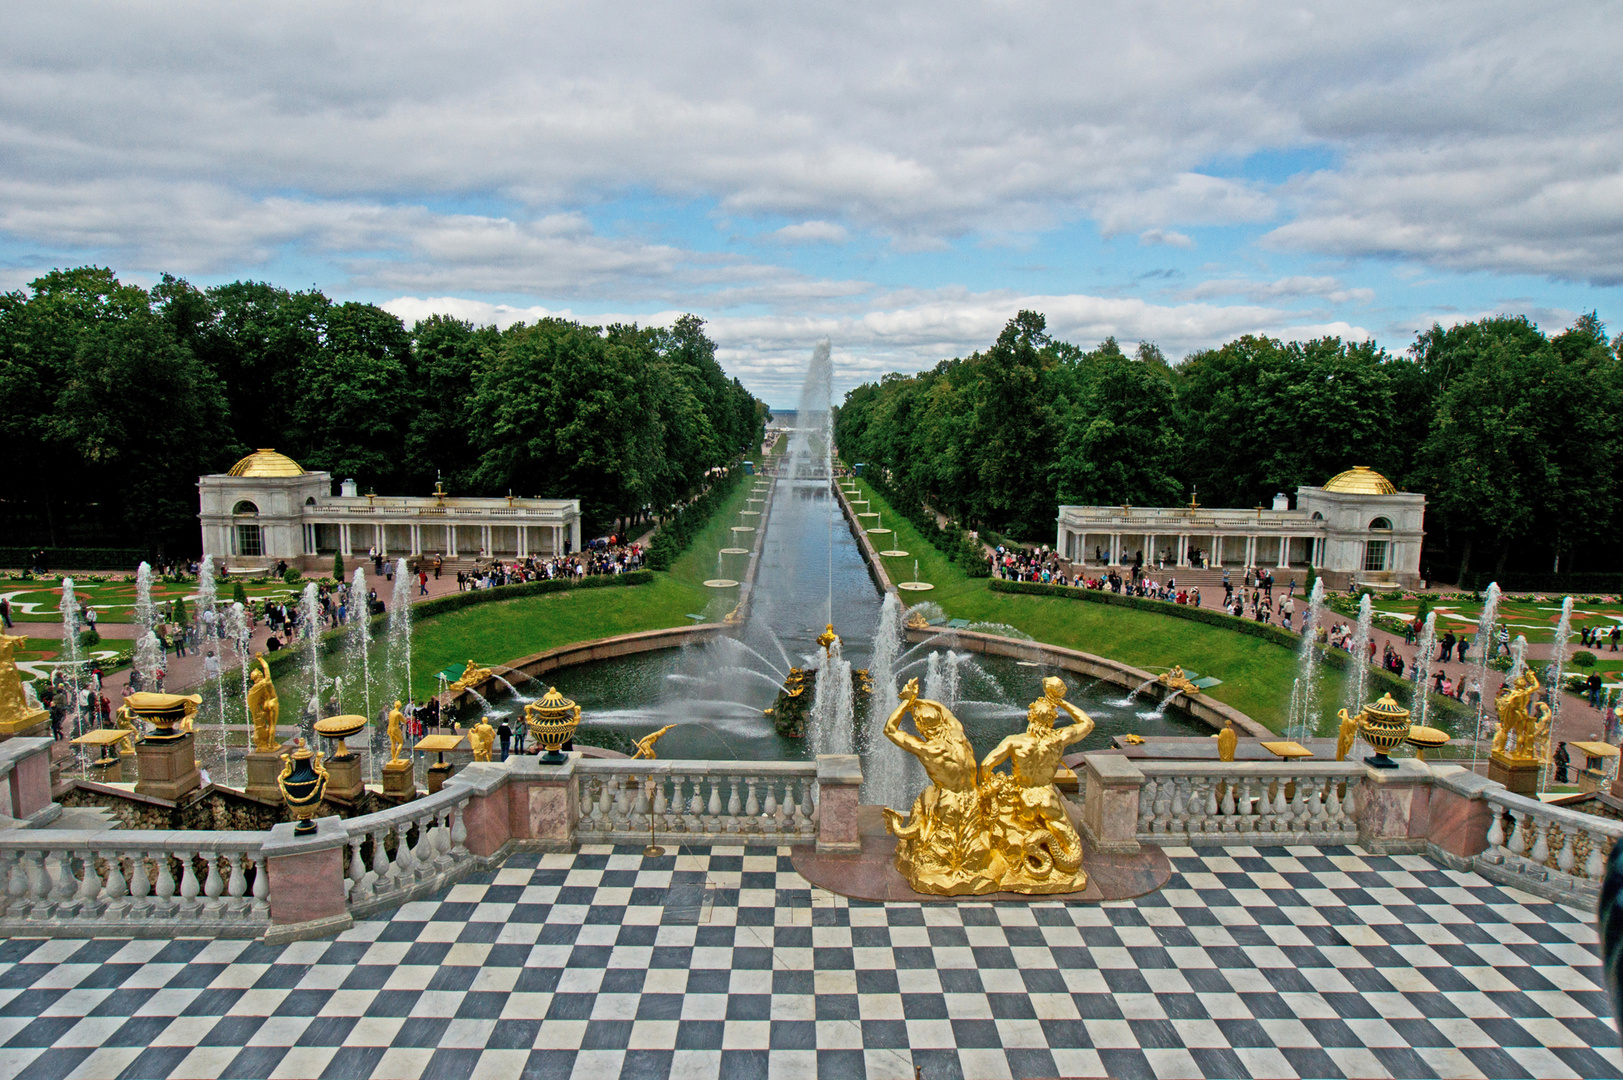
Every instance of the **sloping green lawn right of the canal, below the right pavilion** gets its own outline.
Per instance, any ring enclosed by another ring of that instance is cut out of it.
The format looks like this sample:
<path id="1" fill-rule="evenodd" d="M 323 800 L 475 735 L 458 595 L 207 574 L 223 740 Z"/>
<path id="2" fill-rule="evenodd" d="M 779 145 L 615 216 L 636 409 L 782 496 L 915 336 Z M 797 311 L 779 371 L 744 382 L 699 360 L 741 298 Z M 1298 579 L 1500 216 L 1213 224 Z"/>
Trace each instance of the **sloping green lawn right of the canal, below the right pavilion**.
<path id="1" fill-rule="evenodd" d="M 919 559 L 919 578 L 935 585 L 928 593 L 902 593 L 909 606 L 935 603 L 953 619 L 1003 622 L 1039 642 L 1110 656 L 1149 671 L 1183 664 L 1203 676 L 1224 680 L 1222 685 L 1208 690 L 1219 702 L 1269 728 L 1285 726 L 1290 684 L 1297 669 L 1292 650 L 1220 627 L 1146 611 L 1076 599 L 993 593 L 987 588 L 987 578 L 971 578 L 948 562 L 867 482 L 859 479 L 857 486 L 863 492 L 862 497 L 868 499 L 870 510 L 880 512 L 885 528 L 896 529 L 893 534 L 896 547 L 909 552 L 907 559 L 885 560 L 891 578 L 912 580 L 912 560 Z M 1319 700 L 1336 702 L 1339 708 L 1341 695 L 1342 676 L 1326 672 L 1319 685 Z M 1334 708 L 1328 711 L 1334 715 Z"/>

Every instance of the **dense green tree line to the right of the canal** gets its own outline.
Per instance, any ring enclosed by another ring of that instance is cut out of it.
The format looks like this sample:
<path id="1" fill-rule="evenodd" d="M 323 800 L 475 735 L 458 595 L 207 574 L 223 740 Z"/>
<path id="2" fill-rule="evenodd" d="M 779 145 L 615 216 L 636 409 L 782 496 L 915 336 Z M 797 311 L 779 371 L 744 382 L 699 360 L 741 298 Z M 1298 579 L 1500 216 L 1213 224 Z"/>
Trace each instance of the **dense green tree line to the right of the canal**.
<path id="1" fill-rule="evenodd" d="M 1246 335 L 1169 362 L 1091 351 L 1019 312 L 998 339 L 849 395 L 841 456 L 977 528 L 1053 542 L 1061 503 L 1271 505 L 1354 464 L 1423 492 L 1440 580 L 1612 570 L 1623 361 L 1595 315 L 1545 335 L 1522 317 L 1373 341 Z M 1422 572 L 1427 572 L 1422 567 Z"/>

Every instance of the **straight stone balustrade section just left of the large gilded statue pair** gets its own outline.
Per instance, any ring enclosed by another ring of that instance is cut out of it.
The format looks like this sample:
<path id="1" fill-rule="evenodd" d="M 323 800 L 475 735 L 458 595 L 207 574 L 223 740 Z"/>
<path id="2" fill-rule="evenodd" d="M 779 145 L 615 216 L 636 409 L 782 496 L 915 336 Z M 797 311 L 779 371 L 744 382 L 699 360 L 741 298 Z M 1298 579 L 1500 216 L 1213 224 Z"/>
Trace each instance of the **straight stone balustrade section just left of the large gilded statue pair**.
<path id="1" fill-rule="evenodd" d="M 626 762 L 576 767 L 581 843 L 816 841 L 815 762 Z"/>

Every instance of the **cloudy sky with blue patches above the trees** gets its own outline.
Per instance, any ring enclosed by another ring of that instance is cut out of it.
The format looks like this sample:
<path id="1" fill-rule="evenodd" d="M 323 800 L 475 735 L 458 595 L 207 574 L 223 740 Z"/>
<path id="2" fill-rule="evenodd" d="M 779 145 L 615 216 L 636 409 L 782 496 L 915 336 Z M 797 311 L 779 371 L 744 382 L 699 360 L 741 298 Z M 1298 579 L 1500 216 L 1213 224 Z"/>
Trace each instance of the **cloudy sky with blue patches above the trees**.
<path id="1" fill-rule="evenodd" d="M 75 3 L 0 11 L 0 289 L 316 286 L 708 322 L 795 403 L 1021 309 L 1169 357 L 1595 310 L 1613 3 Z"/>

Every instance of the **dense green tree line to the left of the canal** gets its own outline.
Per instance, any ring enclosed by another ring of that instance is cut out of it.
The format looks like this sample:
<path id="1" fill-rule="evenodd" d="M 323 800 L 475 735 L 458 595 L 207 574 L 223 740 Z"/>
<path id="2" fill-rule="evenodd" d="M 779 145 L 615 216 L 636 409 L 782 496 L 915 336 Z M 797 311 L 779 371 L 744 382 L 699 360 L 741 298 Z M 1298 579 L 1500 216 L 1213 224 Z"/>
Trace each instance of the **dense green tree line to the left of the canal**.
<path id="1" fill-rule="evenodd" d="M 200 544 L 196 477 L 274 447 L 362 492 L 664 508 L 760 440 L 704 323 L 407 328 L 260 281 L 57 270 L 0 296 L 0 544 Z"/>

